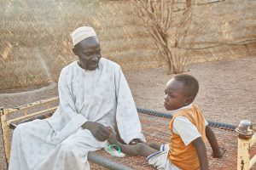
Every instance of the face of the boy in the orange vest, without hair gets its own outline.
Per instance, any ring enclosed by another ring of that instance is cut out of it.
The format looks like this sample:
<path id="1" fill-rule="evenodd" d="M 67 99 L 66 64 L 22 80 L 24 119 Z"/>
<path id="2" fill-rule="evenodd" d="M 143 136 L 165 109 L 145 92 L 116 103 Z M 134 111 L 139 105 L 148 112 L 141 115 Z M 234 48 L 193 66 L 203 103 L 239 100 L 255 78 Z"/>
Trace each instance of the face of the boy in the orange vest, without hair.
<path id="1" fill-rule="evenodd" d="M 188 105 L 188 99 L 183 90 L 183 82 L 172 78 L 166 83 L 165 93 L 164 105 L 167 111 L 174 111 Z"/>

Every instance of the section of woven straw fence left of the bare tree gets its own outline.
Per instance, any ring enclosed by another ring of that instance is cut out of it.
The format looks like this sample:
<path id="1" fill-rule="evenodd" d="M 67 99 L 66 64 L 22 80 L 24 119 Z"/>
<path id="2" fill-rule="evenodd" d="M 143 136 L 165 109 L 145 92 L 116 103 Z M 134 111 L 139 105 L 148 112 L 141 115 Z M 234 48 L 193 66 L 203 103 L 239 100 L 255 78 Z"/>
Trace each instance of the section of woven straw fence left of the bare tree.
<path id="1" fill-rule="evenodd" d="M 0 90 L 57 81 L 61 68 L 76 59 L 69 34 L 78 26 L 95 27 L 104 56 L 121 65 L 127 55 L 131 63 L 157 54 L 142 24 L 127 17 L 132 9 L 119 10 L 125 3 L 91 2 L 2 0 Z M 147 43 L 139 43 L 140 37 Z M 9 48 L 9 42 L 18 45 Z"/>

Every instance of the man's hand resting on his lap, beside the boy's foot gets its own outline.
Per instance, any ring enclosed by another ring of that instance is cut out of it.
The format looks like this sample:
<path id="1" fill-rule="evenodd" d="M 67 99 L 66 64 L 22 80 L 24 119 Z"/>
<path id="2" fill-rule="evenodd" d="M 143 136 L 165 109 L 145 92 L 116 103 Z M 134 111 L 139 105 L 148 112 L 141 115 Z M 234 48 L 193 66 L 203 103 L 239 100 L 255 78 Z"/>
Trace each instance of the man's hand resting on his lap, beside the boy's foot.
<path id="1" fill-rule="evenodd" d="M 85 122 L 83 128 L 90 130 L 90 133 L 99 141 L 105 141 L 111 134 L 111 127 L 105 127 L 98 122 Z"/>

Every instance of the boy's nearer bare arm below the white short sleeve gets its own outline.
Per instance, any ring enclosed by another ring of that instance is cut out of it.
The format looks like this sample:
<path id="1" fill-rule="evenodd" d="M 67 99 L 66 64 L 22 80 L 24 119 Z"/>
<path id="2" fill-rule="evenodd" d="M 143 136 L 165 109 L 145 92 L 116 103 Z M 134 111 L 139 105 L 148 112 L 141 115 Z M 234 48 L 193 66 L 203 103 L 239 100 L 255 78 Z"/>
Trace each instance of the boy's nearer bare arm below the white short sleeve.
<path id="1" fill-rule="evenodd" d="M 207 148 L 201 137 L 193 140 L 191 142 L 195 146 L 195 150 L 200 162 L 200 169 L 201 170 L 207 170 L 208 167 L 208 160 L 207 160 Z"/>

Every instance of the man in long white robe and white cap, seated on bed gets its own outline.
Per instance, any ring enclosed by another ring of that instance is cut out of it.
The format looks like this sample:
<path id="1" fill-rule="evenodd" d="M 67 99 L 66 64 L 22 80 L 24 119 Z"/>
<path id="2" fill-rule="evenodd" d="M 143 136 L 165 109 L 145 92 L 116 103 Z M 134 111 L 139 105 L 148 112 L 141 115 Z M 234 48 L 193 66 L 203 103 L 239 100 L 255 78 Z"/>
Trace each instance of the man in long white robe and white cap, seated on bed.
<path id="1" fill-rule="evenodd" d="M 83 26 L 72 38 L 79 61 L 61 71 L 59 107 L 16 127 L 10 170 L 90 169 L 88 152 L 104 148 L 112 129 L 126 144 L 145 140 L 128 83 L 119 65 L 102 58 L 96 32 Z"/>

